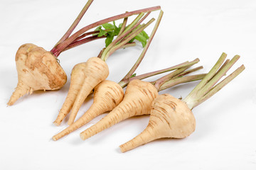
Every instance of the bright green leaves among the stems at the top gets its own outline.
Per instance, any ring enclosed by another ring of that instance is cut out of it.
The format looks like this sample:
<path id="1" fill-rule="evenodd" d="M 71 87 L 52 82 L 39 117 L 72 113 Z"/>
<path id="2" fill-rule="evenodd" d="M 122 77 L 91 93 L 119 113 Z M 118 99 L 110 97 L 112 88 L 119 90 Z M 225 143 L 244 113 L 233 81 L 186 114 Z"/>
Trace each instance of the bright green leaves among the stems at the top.
<path id="1" fill-rule="evenodd" d="M 102 27 L 105 29 L 102 29 Z M 113 24 L 104 23 L 102 24 L 102 26 L 98 26 L 95 29 L 100 31 L 100 33 L 96 33 L 94 35 L 97 35 L 98 37 L 106 36 L 107 38 L 105 40 L 105 45 L 107 47 L 113 41 L 114 36 L 119 34 L 121 27 L 122 27 L 122 23 L 120 23 L 119 26 L 117 27 L 114 21 L 113 21 Z M 134 42 L 134 40 L 138 40 L 139 42 L 142 42 L 142 47 L 144 47 L 148 39 L 149 39 L 149 35 L 147 35 L 146 32 L 142 30 L 141 33 L 139 33 L 137 36 L 132 38 L 132 40 L 130 40 L 129 42 Z"/>

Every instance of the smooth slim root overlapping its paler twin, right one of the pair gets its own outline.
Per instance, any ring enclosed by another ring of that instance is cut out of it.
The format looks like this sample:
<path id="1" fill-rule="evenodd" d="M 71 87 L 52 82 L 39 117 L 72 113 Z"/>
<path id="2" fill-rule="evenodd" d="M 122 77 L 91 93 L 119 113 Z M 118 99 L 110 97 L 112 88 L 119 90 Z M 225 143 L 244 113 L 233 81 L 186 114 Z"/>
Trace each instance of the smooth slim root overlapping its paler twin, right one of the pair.
<path id="1" fill-rule="evenodd" d="M 87 98 L 92 89 L 94 89 L 101 81 L 107 79 L 109 74 L 106 62 L 98 57 L 90 58 L 85 64 L 85 79 L 83 80 L 83 84 L 77 98 L 75 98 L 75 103 L 71 109 L 68 125 L 74 123 L 75 117 L 78 114 L 82 103 L 85 101 L 85 98 Z"/>

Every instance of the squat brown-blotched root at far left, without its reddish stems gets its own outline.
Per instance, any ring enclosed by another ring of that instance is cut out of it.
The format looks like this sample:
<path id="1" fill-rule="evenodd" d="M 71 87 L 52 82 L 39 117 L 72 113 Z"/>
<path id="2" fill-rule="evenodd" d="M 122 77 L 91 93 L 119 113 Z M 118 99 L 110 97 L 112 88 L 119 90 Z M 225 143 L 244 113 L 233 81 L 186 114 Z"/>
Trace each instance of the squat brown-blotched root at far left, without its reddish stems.
<path id="1" fill-rule="evenodd" d="M 16 52 L 18 84 L 11 95 L 9 106 L 25 94 L 38 90 L 57 90 L 64 86 L 67 75 L 56 58 L 42 47 L 24 44 Z"/>

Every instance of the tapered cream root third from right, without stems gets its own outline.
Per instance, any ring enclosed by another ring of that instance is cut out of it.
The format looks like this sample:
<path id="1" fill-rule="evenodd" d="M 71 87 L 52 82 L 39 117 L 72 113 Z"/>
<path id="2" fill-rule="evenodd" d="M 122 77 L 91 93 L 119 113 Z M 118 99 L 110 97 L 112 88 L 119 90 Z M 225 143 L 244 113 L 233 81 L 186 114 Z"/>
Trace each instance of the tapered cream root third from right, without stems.
<path id="1" fill-rule="evenodd" d="M 53 136 L 53 140 L 58 140 L 61 137 L 70 134 L 70 132 L 89 123 L 93 118 L 96 118 L 102 113 L 112 111 L 112 109 L 122 101 L 123 97 L 124 91 L 119 84 L 114 81 L 102 81 L 95 87 L 94 101 L 88 111 L 75 121 L 75 123 Z"/>

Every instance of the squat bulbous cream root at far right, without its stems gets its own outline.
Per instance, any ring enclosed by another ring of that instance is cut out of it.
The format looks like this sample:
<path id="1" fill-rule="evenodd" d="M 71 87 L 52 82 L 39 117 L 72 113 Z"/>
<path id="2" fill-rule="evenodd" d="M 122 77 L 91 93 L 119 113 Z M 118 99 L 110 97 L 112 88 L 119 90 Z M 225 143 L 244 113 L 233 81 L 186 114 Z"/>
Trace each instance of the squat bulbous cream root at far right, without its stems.
<path id="1" fill-rule="evenodd" d="M 120 146 L 122 152 L 164 137 L 184 138 L 196 128 L 196 119 L 183 101 L 169 94 L 157 96 L 150 111 L 149 125 L 133 140 Z"/>

